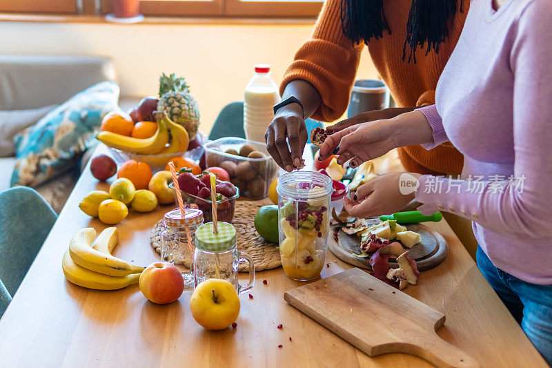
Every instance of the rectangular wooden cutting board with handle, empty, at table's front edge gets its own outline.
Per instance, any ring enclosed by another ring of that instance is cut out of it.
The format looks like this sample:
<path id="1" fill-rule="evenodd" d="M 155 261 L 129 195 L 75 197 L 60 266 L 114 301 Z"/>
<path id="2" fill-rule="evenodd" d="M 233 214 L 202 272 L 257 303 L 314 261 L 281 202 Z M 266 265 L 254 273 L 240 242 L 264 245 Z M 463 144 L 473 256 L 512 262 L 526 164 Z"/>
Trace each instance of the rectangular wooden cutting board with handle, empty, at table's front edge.
<path id="1" fill-rule="evenodd" d="M 437 367 L 479 367 L 437 336 L 443 313 L 361 269 L 286 291 L 284 300 L 369 356 L 406 353 Z"/>

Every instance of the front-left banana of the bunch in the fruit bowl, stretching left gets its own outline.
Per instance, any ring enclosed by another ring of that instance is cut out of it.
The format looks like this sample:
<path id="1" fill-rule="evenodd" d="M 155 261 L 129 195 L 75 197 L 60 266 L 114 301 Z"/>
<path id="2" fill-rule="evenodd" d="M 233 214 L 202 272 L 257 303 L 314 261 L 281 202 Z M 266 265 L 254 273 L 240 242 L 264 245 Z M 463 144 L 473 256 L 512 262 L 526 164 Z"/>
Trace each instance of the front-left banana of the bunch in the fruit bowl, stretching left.
<path id="1" fill-rule="evenodd" d="M 112 132 L 99 132 L 97 135 L 106 146 L 118 150 L 139 153 L 141 155 L 155 155 L 165 148 L 168 142 L 168 130 L 165 122 L 157 124 L 157 132 L 150 138 L 132 138 Z"/>

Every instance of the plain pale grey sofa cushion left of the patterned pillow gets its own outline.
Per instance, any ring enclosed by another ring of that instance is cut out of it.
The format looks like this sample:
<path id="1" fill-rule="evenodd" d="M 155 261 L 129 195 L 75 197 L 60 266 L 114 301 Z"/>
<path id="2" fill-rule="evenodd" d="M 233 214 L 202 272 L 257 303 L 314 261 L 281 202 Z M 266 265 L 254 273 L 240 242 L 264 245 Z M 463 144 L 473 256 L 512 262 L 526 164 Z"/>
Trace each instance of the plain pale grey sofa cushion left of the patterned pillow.
<path id="1" fill-rule="evenodd" d="M 0 157 L 15 153 L 13 138 L 25 128 L 36 124 L 41 117 L 53 110 L 56 105 L 35 108 L 34 110 L 0 111 Z"/>

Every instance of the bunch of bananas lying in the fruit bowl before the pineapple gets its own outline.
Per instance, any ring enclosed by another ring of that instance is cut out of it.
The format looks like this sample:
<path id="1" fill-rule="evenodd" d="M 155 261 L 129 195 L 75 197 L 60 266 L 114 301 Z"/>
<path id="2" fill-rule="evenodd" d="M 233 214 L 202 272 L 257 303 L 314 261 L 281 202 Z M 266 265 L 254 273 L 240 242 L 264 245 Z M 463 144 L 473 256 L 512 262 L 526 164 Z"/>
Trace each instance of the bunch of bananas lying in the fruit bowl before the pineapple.
<path id="1" fill-rule="evenodd" d="M 97 139 L 111 148 L 140 155 L 165 155 L 186 151 L 190 141 L 186 129 L 173 123 L 164 112 L 155 111 L 154 115 L 157 120 L 157 132 L 150 138 L 127 137 L 102 131 L 98 133 Z M 169 139 L 170 144 L 167 146 Z"/>

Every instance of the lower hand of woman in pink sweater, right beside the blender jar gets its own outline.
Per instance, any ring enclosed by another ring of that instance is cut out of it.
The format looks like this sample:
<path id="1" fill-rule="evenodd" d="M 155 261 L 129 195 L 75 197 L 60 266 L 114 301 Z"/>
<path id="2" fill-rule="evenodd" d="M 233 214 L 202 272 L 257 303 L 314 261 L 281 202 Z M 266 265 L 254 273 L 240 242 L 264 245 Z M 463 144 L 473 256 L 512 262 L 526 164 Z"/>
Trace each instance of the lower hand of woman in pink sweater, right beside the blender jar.
<path id="1" fill-rule="evenodd" d="M 353 217 L 375 217 L 401 211 L 410 203 L 415 192 L 403 195 L 400 191 L 400 177 L 404 173 L 386 173 L 359 186 L 353 199 L 343 199 L 345 210 Z M 416 179 L 420 174 L 409 173 Z"/>

